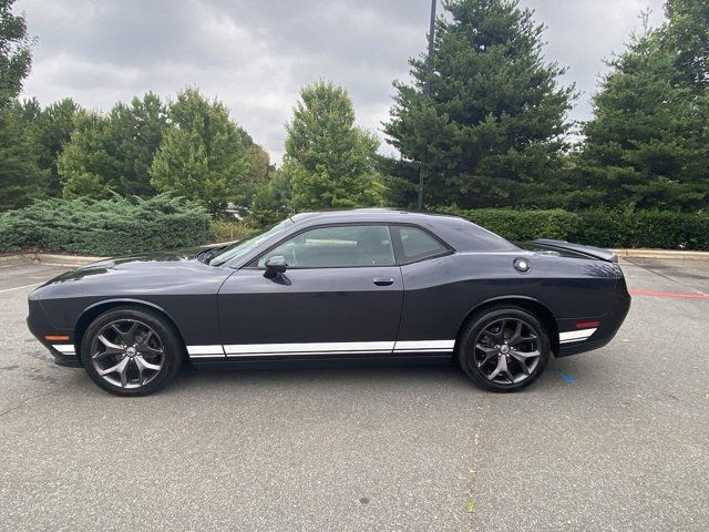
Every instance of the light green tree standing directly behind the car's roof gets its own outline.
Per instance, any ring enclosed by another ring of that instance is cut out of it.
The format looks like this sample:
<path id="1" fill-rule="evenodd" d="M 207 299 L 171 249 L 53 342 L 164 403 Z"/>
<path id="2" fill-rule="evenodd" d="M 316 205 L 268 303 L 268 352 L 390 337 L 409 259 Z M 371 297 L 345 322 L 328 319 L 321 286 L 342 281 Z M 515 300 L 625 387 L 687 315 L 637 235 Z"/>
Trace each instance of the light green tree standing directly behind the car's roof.
<path id="1" fill-rule="evenodd" d="M 345 89 L 323 81 L 304 88 L 286 131 L 282 172 L 292 208 L 381 204 L 384 187 L 374 170 L 379 142 L 354 125 Z"/>

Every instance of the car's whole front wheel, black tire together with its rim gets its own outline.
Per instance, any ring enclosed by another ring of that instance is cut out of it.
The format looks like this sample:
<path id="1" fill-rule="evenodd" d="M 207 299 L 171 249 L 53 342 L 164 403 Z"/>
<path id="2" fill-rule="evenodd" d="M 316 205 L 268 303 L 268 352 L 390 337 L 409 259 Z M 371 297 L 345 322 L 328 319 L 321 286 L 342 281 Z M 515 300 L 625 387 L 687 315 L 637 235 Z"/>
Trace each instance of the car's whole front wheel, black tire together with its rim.
<path id="1" fill-rule="evenodd" d="M 114 336 L 109 338 L 110 335 Z M 127 347 L 133 346 L 123 345 L 126 339 L 137 346 L 131 352 Z M 129 360 L 124 361 L 125 358 Z M 156 392 L 177 375 L 183 358 L 184 345 L 175 327 L 160 313 L 145 308 L 126 306 L 107 310 L 91 323 L 81 340 L 81 360 L 89 377 L 116 396 Z M 125 367 L 100 372 L 120 364 Z"/>

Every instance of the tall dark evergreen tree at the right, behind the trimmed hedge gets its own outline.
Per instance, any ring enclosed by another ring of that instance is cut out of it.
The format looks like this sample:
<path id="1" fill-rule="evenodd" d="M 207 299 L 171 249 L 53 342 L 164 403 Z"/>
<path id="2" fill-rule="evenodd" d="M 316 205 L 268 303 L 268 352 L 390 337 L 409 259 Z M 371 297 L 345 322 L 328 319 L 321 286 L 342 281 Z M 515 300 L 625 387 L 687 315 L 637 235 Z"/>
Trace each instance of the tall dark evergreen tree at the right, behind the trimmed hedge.
<path id="1" fill-rule="evenodd" d="M 580 186 L 603 192 L 604 206 L 707 206 L 708 101 L 692 95 L 693 82 L 676 82 L 684 76 L 677 51 L 664 45 L 666 31 L 646 22 L 645 32 L 609 62 L 613 70 L 593 98 Z"/>

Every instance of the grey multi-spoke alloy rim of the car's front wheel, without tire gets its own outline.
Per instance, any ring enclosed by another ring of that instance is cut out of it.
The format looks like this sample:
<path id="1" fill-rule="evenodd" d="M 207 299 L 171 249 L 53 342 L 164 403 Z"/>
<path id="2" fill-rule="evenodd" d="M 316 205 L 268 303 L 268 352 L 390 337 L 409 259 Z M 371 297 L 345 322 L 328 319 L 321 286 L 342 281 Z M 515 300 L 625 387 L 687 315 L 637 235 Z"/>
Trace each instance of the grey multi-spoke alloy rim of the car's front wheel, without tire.
<path id="1" fill-rule="evenodd" d="M 153 381 L 165 361 L 163 342 L 150 326 L 116 319 L 103 326 L 91 342 L 91 362 L 113 386 L 141 388 Z"/>

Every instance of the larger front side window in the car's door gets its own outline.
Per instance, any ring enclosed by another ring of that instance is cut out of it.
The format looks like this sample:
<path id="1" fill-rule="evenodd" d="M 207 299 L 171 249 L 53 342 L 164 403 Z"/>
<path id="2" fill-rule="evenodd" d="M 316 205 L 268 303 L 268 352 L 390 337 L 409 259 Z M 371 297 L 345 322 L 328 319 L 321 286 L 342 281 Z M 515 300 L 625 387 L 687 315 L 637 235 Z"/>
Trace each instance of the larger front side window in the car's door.
<path id="1" fill-rule="evenodd" d="M 389 228 L 384 225 L 320 227 L 294 236 L 263 255 L 251 266 L 264 267 L 280 255 L 291 268 L 346 268 L 395 264 Z"/>

